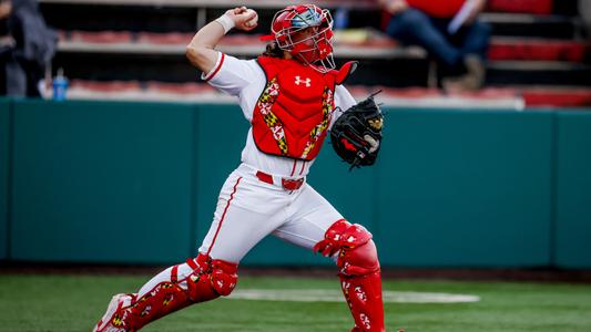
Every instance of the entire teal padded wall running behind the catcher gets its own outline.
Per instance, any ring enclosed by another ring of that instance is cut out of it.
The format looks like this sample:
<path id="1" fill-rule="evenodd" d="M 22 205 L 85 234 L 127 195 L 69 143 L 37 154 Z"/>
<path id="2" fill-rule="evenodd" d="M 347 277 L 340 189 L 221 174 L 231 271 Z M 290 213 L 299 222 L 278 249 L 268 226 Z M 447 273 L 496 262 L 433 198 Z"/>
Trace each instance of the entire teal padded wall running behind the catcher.
<path id="1" fill-rule="evenodd" d="M 325 148 L 308 177 L 384 266 L 591 268 L 591 110 L 386 111 L 375 167 Z M 47 262 L 194 256 L 248 128 L 213 104 L 0 101 L 0 258 Z M 243 263 L 332 262 L 268 238 Z"/>

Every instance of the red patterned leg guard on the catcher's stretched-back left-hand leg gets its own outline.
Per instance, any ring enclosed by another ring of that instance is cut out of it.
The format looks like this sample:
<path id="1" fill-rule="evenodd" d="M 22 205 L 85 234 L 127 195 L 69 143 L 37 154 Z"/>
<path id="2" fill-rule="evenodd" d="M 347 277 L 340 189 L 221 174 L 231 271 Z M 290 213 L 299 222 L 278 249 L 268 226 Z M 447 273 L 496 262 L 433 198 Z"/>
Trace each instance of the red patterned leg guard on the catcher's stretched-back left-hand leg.
<path id="1" fill-rule="evenodd" d="M 193 269 L 188 277 L 179 280 L 179 266 L 175 266 L 170 281 L 157 283 L 142 298 L 133 299 L 131 305 L 115 312 L 113 322 L 125 328 L 121 331 L 137 331 L 147 323 L 193 303 L 228 295 L 236 286 L 238 276 L 235 263 L 212 260 L 202 253 L 186 263 Z"/>

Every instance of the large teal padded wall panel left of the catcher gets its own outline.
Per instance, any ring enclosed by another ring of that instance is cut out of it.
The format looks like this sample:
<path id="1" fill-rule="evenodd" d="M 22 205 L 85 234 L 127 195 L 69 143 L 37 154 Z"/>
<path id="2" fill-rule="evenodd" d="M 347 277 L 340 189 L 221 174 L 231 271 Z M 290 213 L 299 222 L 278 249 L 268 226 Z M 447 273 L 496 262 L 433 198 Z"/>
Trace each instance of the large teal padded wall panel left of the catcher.
<path id="1" fill-rule="evenodd" d="M 191 250 L 193 107 L 22 101 L 12 259 L 169 262 Z"/>

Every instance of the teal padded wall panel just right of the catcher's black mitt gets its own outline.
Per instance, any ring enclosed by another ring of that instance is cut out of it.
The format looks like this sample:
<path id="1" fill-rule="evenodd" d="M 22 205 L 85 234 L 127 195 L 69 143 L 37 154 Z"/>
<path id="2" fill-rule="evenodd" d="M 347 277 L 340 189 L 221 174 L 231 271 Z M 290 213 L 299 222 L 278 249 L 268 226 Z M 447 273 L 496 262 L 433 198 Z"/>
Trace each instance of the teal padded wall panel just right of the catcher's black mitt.
<path id="1" fill-rule="evenodd" d="M 550 263 L 549 112 L 395 111 L 379 163 L 385 263 Z"/>

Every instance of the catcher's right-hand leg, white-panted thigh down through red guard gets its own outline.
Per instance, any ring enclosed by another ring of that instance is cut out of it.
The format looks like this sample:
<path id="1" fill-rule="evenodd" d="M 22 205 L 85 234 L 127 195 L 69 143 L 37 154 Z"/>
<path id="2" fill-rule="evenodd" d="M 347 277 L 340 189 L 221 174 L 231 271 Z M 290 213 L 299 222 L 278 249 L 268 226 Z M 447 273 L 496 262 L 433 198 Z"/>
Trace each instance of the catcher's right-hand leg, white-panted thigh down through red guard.
<path id="1" fill-rule="evenodd" d="M 274 235 L 297 246 L 334 257 L 345 299 L 355 320 L 353 331 L 385 331 L 381 276 L 371 234 L 346 221 L 310 186 L 293 204 L 297 210 Z"/>

